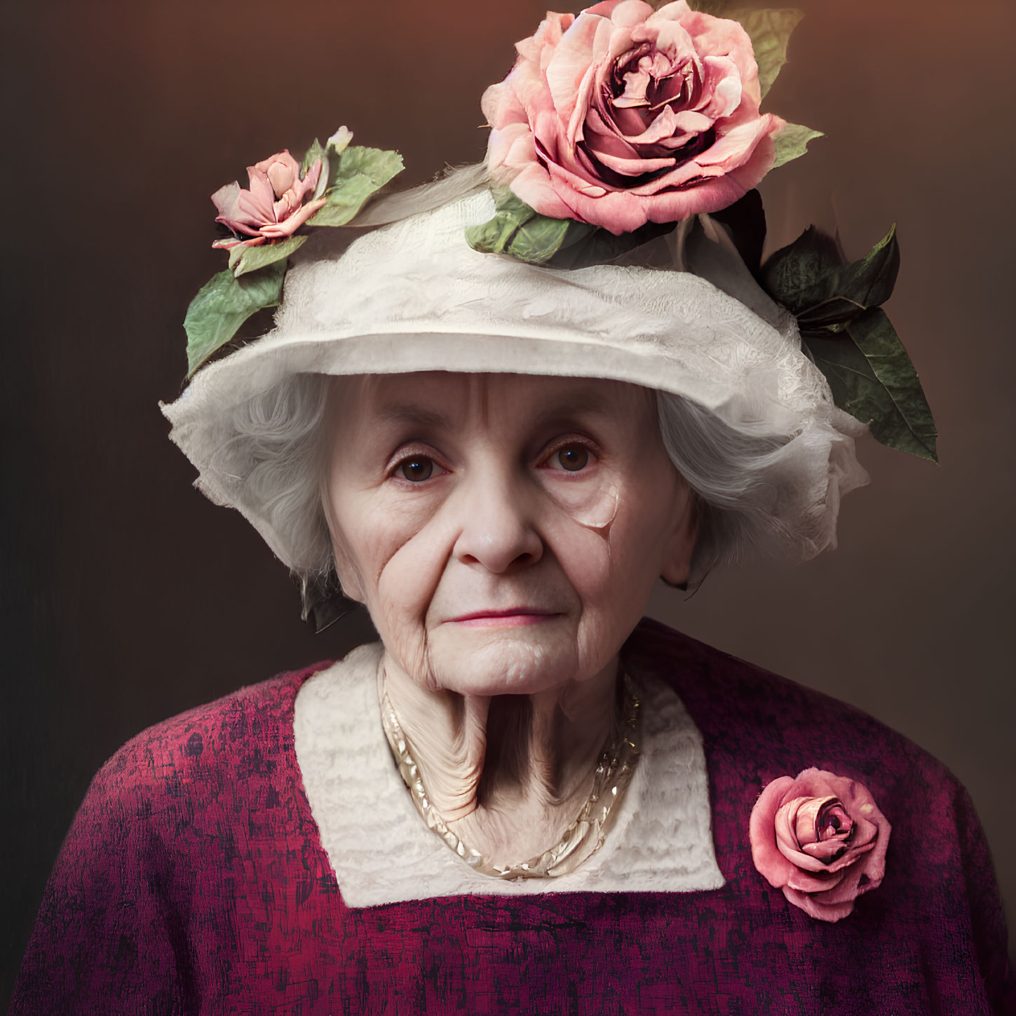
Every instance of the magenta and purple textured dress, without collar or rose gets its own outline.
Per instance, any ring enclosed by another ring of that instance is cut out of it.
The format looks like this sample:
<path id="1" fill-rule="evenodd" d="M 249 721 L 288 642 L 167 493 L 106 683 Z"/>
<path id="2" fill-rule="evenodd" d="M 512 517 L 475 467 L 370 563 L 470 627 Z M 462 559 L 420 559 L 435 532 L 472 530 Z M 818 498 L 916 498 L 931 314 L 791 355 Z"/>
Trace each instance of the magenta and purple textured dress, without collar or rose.
<path id="1" fill-rule="evenodd" d="M 318 668 L 160 723 L 102 768 L 64 842 L 11 1013 L 1016 1013 L 966 791 L 872 717 L 644 621 L 626 650 L 702 733 L 717 890 L 453 896 L 352 908 L 294 752 Z M 755 870 L 762 787 L 817 766 L 892 823 L 836 924 Z"/>

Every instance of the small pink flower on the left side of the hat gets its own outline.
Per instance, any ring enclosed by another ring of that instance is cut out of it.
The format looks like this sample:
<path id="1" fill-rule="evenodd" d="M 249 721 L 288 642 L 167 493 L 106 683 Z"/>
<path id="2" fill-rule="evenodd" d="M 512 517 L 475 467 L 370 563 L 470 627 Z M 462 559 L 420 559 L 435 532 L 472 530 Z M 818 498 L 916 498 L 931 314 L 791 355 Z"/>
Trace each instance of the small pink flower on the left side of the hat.
<path id="1" fill-rule="evenodd" d="M 247 167 L 250 190 L 243 190 L 236 181 L 220 187 L 211 195 L 218 209 L 216 223 L 232 231 L 236 240 L 216 240 L 212 247 L 229 250 L 238 244 L 257 247 L 266 240 L 291 237 L 325 203 L 314 198 L 321 177 L 318 158 L 300 175 L 300 164 L 287 151 Z M 308 198 L 312 200 L 307 200 Z M 241 240 L 240 236 L 250 239 Z"/>

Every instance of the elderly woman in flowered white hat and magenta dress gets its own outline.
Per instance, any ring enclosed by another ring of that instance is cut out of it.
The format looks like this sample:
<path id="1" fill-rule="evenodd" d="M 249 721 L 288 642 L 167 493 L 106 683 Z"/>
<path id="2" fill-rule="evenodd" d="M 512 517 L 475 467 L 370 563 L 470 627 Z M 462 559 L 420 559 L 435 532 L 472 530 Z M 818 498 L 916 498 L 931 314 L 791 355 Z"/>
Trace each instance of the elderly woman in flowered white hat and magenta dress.
<path id="1" fill-rule="evenodd" d="M 751 188 L 809 132 L 759 113 L 749 27 L 548 15 L 485 167 L 370 203 L 397 156 L 343 129 L 216 192 L 173 438 L 309 617 L 380 640 L 110 760 L 13 1012 L 1012 1011 L 955 778 L 640 620 L 657 578 L 830 546 L 865 425 L 934 454 L 892 236 L 758 264 Z"/>

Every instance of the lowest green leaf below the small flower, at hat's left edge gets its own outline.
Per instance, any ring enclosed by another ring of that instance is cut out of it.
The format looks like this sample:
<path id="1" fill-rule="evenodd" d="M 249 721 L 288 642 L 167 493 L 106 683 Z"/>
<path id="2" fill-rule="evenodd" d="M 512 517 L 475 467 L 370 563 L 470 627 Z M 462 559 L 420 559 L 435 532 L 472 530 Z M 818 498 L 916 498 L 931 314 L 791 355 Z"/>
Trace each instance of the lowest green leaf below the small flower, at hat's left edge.
<path id="1" fill-rule="evenodd" d="M 285 262 L 275 261 L 242 278 L 227 268 L 201 287 L 184 318 L 188 377 L 233 338 L 252 314 L 278 304 L 284 276 Z"/>

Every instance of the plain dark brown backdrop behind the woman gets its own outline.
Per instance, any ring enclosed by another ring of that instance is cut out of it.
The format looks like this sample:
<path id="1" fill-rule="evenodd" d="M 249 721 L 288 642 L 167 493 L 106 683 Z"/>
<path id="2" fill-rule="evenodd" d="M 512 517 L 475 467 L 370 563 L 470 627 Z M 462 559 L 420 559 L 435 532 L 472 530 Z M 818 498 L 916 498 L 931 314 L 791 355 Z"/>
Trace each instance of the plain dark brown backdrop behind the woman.
<path id="1" fill-rule="evenodd" d="M 767 108 L 828 137 L 764 184 L 770 234 L 782 244 L 835 213 L 856 256 L 898 223 L 889 310 L 942 465 L 866 440 L 874 483 L 847 499 L 838 551 L 797 569 L 749 563 L 651 609 L 942 758 L 973 795 L 1012 914 L 1016 7 L 802 6 Z M 6 6 L 3 996 L 88 779 L 123 741 L 369 631 L 363 618 L 305 630 L 281 567 L 190 489 L 166 440 L 156 402 L 179 389 L 180 322 L 223 261 L 208 194 L 341 123 L 400 148 L 406 183 L 479 158 L 481 92 L 543 12 L 543 0 Z M 919 849 L 896 844 L 896 863 Z"/>

